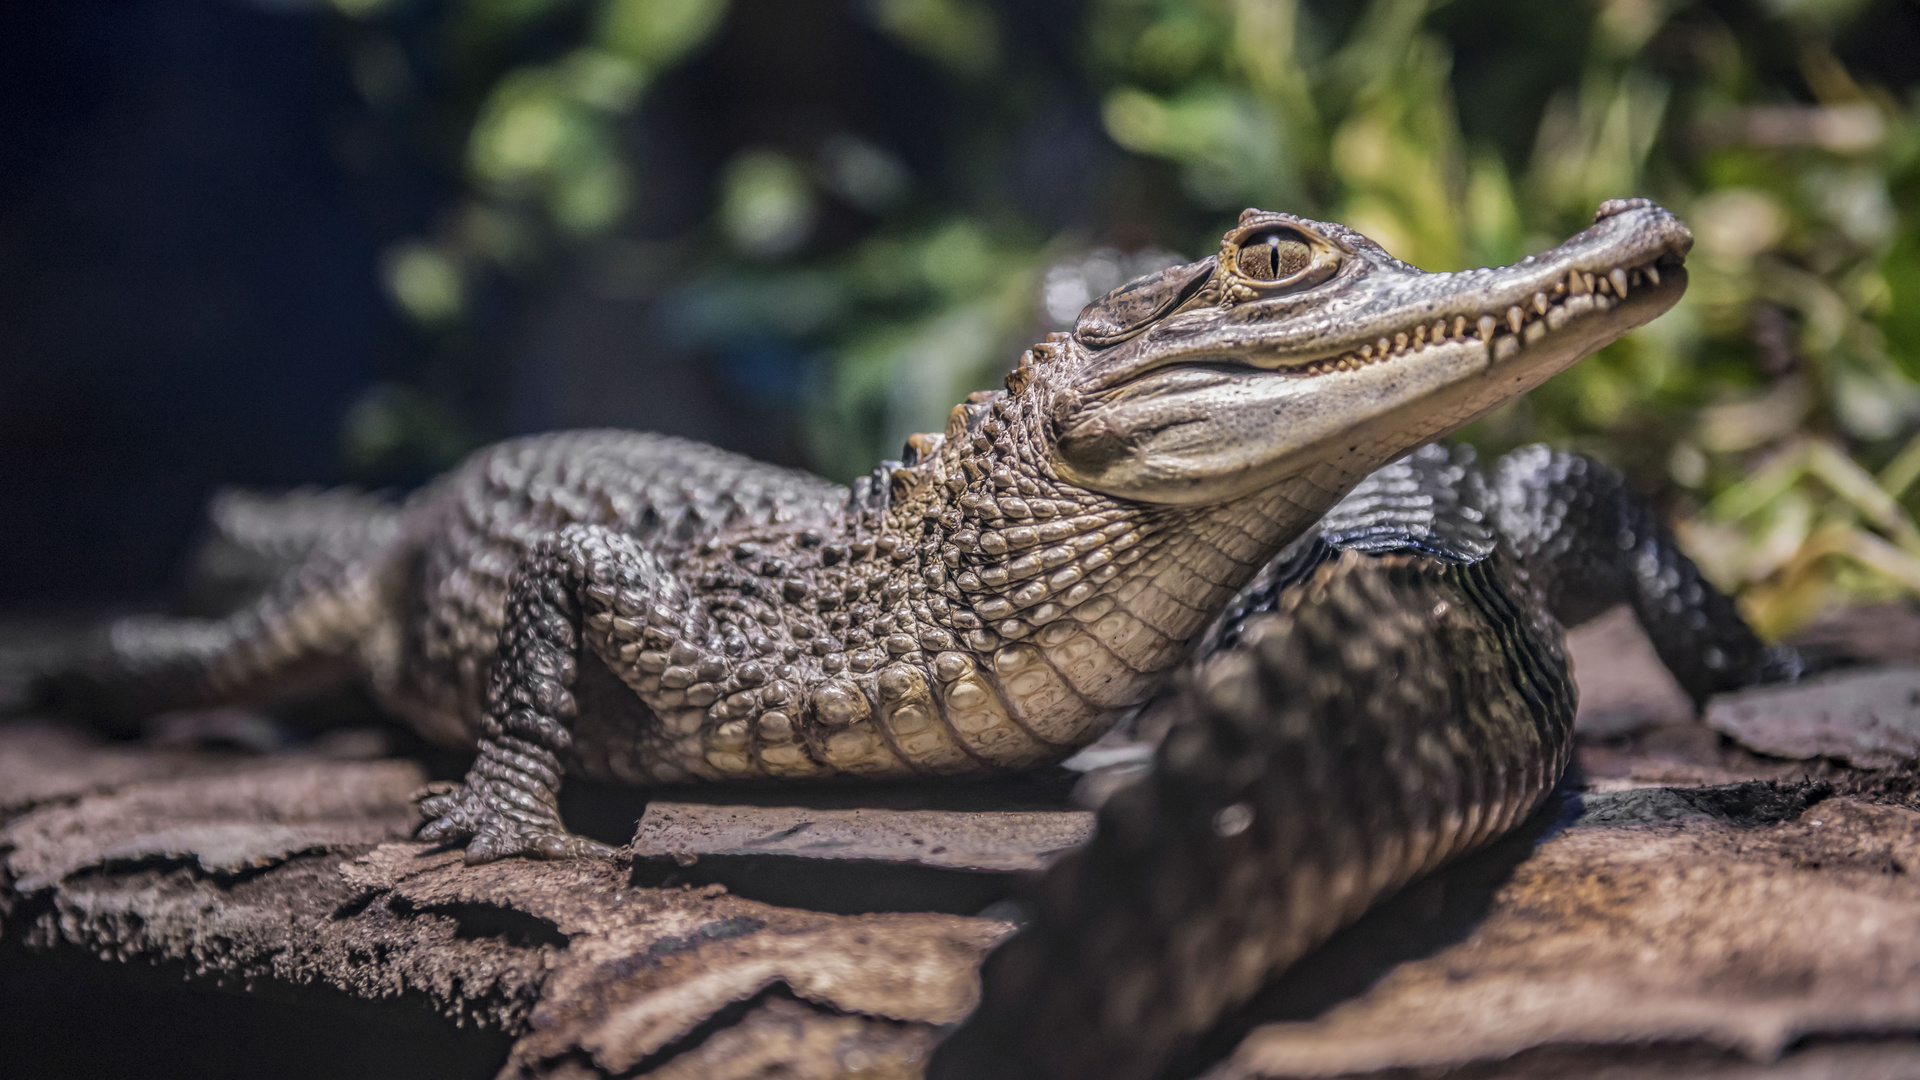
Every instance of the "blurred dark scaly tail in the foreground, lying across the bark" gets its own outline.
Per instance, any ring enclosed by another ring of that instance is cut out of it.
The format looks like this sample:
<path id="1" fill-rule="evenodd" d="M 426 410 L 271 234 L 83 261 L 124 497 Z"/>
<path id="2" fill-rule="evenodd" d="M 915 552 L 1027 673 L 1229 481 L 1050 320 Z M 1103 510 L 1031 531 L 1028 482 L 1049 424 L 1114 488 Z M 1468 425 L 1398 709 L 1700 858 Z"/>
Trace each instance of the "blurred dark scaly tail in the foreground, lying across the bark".
<path id="1" fill-rule="evenodd" d="M 1160 1076 L 1273 972 L 1532 813 L 1574 694 L 1503 561 L 1346 552 L 1188 669 L 1152 771 L 1031 882 L 929 1080 Z"/>

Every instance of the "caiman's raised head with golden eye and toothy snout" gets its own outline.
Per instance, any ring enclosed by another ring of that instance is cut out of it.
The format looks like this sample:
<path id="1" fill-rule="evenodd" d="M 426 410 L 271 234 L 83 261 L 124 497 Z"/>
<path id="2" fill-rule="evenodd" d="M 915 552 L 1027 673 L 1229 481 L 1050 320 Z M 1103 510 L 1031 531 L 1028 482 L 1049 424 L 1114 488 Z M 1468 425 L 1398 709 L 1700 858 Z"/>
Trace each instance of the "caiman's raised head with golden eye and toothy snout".
<path id="1" fill-rule="evenodd" d="M 1094 492 L 1338 488 L 1672 307 L 1692 242 L 1659 206 L 1611 200 L 1549 252 L 1427 273 L 1344 225 L 1248 209 L 1219 254 L 1096 300 L 1008 386 L 1046 402 L 1054 475 Z"/>

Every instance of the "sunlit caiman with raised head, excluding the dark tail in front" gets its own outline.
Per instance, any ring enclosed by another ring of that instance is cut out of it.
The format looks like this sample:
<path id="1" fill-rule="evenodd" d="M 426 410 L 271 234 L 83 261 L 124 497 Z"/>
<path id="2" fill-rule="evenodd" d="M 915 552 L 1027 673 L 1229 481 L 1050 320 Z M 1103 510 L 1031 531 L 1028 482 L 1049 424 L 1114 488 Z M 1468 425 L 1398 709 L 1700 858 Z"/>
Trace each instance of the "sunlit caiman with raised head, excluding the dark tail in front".
<path id="1" fill-rule="evenodd" d="M 599 851 L 559 821 L 568 769 L 1058 761 L 1363 477 L 1665 311 L 1690 242 L 1613 202 L 1553 252 L 1428 275 L 1340 225 L 1248 211 L 1215 258 L 1096 302 L 854 496 L 659 436 L 503 444 L 252 611 L 123 628 L 138 663 L 117 686 L 188 703 L 357 667 L 422 732 L 478 742 L 422 828 L 474 861 Z"/>

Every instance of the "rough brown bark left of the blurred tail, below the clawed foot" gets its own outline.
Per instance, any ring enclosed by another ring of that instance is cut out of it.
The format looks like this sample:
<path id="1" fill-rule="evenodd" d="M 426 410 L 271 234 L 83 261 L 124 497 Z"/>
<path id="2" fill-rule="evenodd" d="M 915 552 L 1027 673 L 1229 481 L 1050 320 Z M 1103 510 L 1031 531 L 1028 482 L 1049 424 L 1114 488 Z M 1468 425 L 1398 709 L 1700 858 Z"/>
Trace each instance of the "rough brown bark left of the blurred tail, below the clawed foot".
<path id="1" fill-rule="evenodd" d="M 394 842 L 420 780 L 403 761 L 265 757 L 40 805 L 0 830 L 8 936 L 253 992 L 424 997 L 522 1036 L 507 1074 L 538 1076 L 674 1061 L 678 1040 L 707 1047 L 703 1024 L 770 992 L 814 1017 L 768 1020 L 774 1042 L 843 1057 L 872 1042 L 876 1063 L 918 1061 L 937 1024 L 972 1009 L 979 959 L 1008 932 L 639 888 L 612 861 L 467 867 Z"/>

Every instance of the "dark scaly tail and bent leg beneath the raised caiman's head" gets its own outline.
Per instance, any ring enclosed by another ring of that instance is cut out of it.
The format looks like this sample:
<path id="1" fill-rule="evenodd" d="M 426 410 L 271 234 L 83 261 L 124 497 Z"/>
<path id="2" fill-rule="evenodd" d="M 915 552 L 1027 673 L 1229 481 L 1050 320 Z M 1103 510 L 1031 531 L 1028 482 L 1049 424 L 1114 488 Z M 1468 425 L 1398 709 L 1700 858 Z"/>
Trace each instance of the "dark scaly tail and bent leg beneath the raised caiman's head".
<path id="1" fill-rule="evenodd" d="M 1025 892 L 931 1080 L 1148 1080 L 1379 899 L 1524 821 L 1572 746 L 1563 626 L 1632 603 L 1695 696 L 1786 678 L 1645 500 L 1544 446 L 1425 448 L 1252 580 L 1152 769 Z"/>

